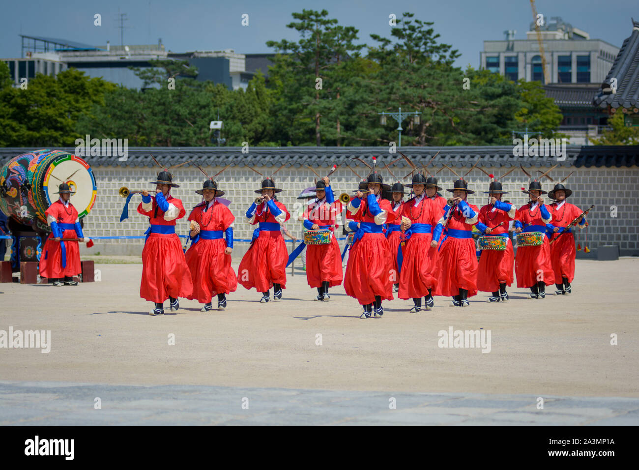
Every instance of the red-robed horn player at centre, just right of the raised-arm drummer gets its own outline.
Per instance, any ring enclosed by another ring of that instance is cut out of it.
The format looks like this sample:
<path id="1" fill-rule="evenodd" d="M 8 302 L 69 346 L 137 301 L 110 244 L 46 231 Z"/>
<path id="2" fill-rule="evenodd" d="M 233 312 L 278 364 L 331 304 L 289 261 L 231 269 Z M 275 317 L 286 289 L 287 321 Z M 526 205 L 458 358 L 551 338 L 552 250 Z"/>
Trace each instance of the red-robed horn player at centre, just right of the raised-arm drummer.
<path id="1" fill-rule="evenodd" d="M 383 184 L 381 175 L 371 173 L 367 179 L 371 193 L 364 199 L 361 191 L 348 203 L 347 210 L 357 214 L 360 222 L 348 223 L 348 231 L 355 231 L 344 275 L 344 290 L 364 306 L 360 318 L 379 318 L 384 314 L 382 300 L 393 299 L 392 269 L 389 241 L 382 226 L 392 211 L 390 202 L 381 198 L 390 185 Z M 374 311 L 373 311 L 374 304 Z"/>

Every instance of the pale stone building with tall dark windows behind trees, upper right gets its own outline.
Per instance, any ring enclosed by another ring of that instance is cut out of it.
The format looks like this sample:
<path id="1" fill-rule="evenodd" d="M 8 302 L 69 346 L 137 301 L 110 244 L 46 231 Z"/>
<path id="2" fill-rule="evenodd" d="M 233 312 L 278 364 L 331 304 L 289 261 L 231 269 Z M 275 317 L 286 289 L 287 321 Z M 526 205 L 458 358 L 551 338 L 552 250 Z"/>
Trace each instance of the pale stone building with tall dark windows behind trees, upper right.
<path id="1" fill-rule="evenodd" d="M 546 67 L 551 83 L 601 83 L 612 67 L 619 47 L 590 39 L 560 17 L 552 17 L 541 28 Z M 534 23 L 526 39 L 515 39 L 516 31 L 505 31 L 505 40 L 484 41 L 480 68 L 498 72 L 512 81 L 540 81 L 544 73 Z"/>

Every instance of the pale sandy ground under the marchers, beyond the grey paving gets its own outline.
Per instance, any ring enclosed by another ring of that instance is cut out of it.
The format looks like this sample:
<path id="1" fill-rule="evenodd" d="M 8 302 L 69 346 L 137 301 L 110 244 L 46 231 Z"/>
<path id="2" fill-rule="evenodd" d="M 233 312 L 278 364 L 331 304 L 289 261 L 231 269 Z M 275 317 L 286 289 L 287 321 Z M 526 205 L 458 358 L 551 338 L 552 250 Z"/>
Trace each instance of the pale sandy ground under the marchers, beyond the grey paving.
<path id="1" fill-rule="evenodd" d="M 368 320 L 341 286 L 314 302 L 301 270 L 281 302 L 238 286 L 226 311 L 181 299 L 178 315 L 151 317 L 141 265 L 96 269 L 100 282 L 77 287 L 0 284 L 0 330 L 50 330 L 52 343 L 48 354 L 0 348 L 0 380 L 639 397 L 636 258 L 578 260 L 571 296 L 511 287 L 506 304 L 437 297 L 419 314 L 396 299 Z M 491 351 L 438 347 L 451 326 L 491 331 Z"/>

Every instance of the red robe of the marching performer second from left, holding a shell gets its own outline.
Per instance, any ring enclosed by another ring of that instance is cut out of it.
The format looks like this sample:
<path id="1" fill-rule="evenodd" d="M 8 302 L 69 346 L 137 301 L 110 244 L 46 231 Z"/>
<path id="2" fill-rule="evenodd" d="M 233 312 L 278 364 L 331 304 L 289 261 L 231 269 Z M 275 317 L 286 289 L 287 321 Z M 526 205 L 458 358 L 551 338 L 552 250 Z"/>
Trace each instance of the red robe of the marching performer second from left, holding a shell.
<path id="1" fill-rule="evenodd" d="M 196 221 L 200 230 L 224 232 L 235 221 L 231 210 L 222 203 L 216 201 L 206 212 L 204 207 L 206 201 L 194 207 L 189 215 L 189 221 Z M 193 293 L 187 297 L 189 300 L 197 299 L 201 304 L 207 304 L 213 295 L 235 292 L 238 278 L 231 267 L 231 255 L 225 255 L 225 249 L 224 239 L 200 238 L 196 244 L 191 244 L 185 254 L 193 281 Z"/>

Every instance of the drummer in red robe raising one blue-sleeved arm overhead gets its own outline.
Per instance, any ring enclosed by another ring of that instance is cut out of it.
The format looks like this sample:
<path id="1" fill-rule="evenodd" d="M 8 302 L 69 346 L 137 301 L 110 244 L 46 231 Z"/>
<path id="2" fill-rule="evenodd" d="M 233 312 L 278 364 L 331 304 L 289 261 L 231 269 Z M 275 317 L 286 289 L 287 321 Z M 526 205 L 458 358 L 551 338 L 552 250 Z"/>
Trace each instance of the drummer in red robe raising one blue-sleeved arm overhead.
<path id="1" fill-rule="evenodd" d="M 306 280 L 318 290 L 316 301 L 328 301 L 328 288 L 339 286 L 343 278 L 342 258 L 334 233 L 337 208 L 328 176 L 316 183 L 315 194 L 316 199 L 304 211 L 304 228 L 329 230 L 330 243 L 306 246 Z"/>

